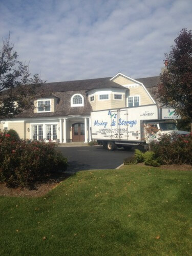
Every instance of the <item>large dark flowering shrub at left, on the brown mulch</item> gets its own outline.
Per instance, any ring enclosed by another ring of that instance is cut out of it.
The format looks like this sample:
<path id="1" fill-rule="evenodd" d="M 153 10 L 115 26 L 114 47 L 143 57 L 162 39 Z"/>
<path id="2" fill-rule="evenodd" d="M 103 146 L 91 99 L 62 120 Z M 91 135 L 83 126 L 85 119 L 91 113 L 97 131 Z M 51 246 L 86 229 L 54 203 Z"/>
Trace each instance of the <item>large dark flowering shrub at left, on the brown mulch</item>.
<path id="1" fill-rule="evenodd" d="M 67 169 L 67 159 L 57 152 L 56 143 L 11 140 L 0 134 L 0 180 L 8 186 L 28 186 L 52 172 Z"/>

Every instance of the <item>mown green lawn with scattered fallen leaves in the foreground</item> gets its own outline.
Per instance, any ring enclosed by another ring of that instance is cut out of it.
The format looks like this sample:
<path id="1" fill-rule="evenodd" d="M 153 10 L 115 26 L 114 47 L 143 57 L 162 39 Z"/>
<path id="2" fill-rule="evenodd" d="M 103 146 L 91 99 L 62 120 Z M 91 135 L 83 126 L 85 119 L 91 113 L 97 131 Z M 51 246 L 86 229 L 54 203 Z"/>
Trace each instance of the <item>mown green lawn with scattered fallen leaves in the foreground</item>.
<path id="1" fill-rule="evenodd" d="M 0 254 L 190 255 L 191 176 L 129 165 L 77 173 L 45 197 L 1 197 Z"/>

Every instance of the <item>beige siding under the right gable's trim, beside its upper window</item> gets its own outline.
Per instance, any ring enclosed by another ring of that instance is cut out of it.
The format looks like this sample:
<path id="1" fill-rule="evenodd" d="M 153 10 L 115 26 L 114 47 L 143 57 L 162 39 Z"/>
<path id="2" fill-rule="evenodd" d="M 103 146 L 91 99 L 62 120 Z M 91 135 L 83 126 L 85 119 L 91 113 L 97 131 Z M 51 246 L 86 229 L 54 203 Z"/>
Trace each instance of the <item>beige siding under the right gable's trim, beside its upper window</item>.
<path id="1" fill-rule="evenodd" d="M 154 103 L 142 86 L 129 87 L 129 96 L 137 95 L 140 96 L 140 105 L 148 105 Z"/>

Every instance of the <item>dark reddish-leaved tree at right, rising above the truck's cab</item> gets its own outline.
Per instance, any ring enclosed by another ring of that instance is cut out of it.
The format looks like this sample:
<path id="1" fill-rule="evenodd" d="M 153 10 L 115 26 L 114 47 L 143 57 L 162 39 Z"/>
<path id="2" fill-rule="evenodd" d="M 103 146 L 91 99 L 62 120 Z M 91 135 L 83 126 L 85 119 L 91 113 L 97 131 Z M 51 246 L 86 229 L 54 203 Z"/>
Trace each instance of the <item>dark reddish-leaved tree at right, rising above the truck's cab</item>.
<path id="1" fill-rule="evenodd" d="M 192 120 L 192 32 L 182 29 L 166 57 L 157 95 L 162 103 Z"/>

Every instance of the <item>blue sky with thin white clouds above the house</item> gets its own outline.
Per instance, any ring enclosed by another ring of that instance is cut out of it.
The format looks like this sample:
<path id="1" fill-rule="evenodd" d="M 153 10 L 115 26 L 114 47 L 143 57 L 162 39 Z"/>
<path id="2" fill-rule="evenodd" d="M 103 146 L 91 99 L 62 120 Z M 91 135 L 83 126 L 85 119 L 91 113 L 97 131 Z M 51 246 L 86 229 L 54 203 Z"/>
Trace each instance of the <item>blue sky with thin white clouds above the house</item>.
<path id="1" fill-rule="evenodd" d="M 141 78 L 159 75 L 191 13 L 191 0 L 0 0 L 0 36 L 48 82 Z"/>

